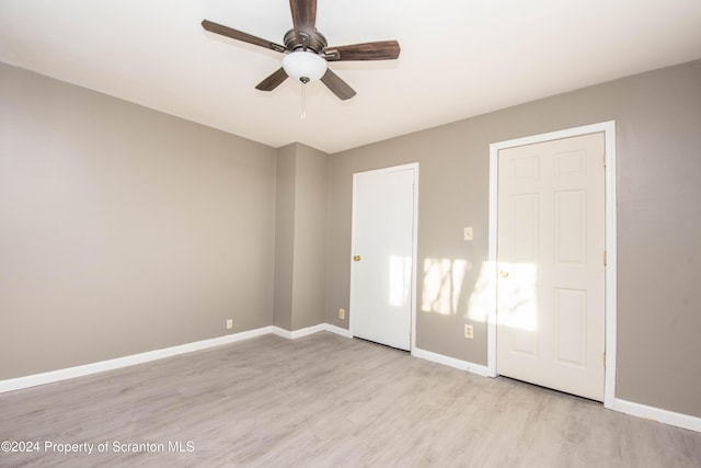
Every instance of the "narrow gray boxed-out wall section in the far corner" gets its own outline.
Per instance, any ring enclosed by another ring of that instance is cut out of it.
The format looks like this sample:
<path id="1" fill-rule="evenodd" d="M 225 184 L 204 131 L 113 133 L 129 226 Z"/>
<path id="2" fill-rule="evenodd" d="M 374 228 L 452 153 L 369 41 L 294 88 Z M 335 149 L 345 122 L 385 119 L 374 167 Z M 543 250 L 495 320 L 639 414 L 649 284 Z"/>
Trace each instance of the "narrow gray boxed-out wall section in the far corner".
<path id="1" fill-rule="evenodd" d="M 274 324 L 324 321 L 329 155 L 300 144 L 277 151 Z"/>

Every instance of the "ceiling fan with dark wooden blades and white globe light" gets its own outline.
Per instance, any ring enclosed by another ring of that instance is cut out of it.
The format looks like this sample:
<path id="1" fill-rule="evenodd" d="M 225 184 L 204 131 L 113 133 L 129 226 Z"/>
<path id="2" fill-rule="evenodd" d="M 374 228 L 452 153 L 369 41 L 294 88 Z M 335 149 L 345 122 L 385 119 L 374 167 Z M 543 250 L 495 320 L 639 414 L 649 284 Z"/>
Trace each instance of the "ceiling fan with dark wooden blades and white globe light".
<path id="1" fill-rule="evenodd" d="M 320 79 L 336 96 L 346 100 L 353 98 L 356 92 L 336 73 L 331 71 L 326 62 L 392 60 L 399 57 L 400 47 L 397 41 L 329 47 L 326 38 L 315 27 L 317 0 L 289 0 L 289 8 L 292 12 L 294 27 L 285 34 L 283 38 L 285 45 L 208 20 L 203 20 L 202 26 L 215 34 L 286 54 L 283 67 L 255 87 L 261 91 L 273 91 L 288 77 L 297 79 L 304 84 Z"/>

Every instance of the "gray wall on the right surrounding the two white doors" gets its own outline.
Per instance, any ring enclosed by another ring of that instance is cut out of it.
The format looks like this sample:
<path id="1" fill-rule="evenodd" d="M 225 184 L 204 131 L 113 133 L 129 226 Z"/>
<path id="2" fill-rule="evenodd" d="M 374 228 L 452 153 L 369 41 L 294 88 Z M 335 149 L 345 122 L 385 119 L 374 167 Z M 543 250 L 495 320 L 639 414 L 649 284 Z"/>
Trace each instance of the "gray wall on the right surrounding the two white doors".
<path id="1" fill-rule="evenodd" d="M 486 365 L 486 326 L 462 338 L 487 259 L 489 145 L 614 119 L 617 397 L 701 416 L 701 61 L 630 77 L 333 155 L 326 321 L 347 328 L 354 172 L 420 162 L 417 346 Z M 474 241 L 462 240 L 462 227 Z M 423 265 L 467 261 L 459 305 L 422 309 Z M 696 290 L 694 290 L 696 289 Z M 352 312 L 352 311 L 350 311 Z"/>

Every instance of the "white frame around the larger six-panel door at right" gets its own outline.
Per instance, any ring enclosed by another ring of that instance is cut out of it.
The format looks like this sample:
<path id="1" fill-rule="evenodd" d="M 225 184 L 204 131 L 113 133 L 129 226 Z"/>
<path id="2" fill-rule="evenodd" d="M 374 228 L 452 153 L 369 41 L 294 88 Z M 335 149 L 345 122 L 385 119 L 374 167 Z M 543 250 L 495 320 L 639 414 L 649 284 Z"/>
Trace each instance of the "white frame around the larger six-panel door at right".
<path id="1" fill-rule="evenodd" d="M 496 377 L 496 243 L 497 243 L 497 195 L 498 152 L 516 146 L 532 145 L 561 138 L 604 133 L 606 148 L 606 370 L 604 383 L 604 407 L 613 408 L 616 397 L 616 122 L 602 122 L 576 128 L 516 138 L 490 145 L 490 238 L 487 276 L 490 294 L 487 303 L 487 375 Z M 602 161 L 604 163 L 604 161 Z"/>

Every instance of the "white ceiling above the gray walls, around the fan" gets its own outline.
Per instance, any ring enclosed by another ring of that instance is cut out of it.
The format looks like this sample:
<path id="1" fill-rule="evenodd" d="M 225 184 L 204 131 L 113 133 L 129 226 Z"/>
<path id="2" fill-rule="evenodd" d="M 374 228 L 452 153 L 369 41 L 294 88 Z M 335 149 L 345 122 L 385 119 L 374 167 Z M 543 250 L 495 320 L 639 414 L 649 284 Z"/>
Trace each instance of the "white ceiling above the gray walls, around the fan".
<path id="1" fill-rule="evenodd" d="M 336 152 L 701 58 L 700 0 L 319 0 L 329 45 L 398 39 L 398 60 L 335 62 L 357 95 L 287 80 L 287 0 L 0 0 L 0 61 L 273 147 Z M 701 85 L 701 84 L 700 84 Z"/>

